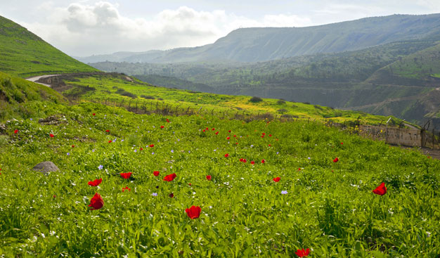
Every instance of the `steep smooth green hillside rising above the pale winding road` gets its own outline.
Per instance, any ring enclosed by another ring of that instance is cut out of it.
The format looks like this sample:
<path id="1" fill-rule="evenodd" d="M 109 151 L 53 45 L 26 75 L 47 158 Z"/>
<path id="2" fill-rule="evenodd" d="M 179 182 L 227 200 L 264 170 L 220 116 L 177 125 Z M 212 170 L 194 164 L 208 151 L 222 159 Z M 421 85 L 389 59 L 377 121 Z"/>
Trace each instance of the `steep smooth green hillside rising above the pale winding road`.
<path id="1" fill-rule="evenodd" d="M 18 77 L 95 68 L 67 56 L 17 23 L 0 16 L 0 71 Z"/>

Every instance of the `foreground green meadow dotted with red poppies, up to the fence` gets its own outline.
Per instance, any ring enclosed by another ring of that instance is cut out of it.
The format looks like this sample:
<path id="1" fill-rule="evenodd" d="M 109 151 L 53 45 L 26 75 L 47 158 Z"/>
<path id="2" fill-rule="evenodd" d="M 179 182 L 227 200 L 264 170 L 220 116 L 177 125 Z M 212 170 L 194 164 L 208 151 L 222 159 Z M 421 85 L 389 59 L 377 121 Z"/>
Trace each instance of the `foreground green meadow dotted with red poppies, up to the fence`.
<path id="1" fill-rule="evenodd" d="M 415 150 L 314 122 L 25 108 L 0 135 L 0 257 L 439 257 L 440 162 Z"/>

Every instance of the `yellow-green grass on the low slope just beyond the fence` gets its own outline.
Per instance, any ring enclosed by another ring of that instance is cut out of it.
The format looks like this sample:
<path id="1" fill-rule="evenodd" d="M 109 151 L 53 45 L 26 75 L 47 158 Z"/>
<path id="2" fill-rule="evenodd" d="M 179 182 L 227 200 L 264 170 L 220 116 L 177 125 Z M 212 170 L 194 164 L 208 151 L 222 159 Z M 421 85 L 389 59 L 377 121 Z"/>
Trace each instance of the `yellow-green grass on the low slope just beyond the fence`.
<path id="1" fill-rule="evenodd" d="M 346 122 L 357 120 L 360 117 L 361 122 L 368 124 L 379 124 L 381 121 L 387 120 L 386 117 L 379 115 L 370 115 L 365 112 L 334 110 L 332 108 L 323 107 L 319 105 L 309 105 L 304 103 L 295 103 L 290 101 L 282 102 L 278 99 L 264 98 L 264 101 L 259 103 L 250 102 L 250 96 L 228 96 L 214 93 L 201 93 L 194 91 L 182 91 L 177 89 L 167 89 L 163 87 L 150 86 L 135 79 L 134 82 L 127 81 L 125 76 L 119 75 L 94 75 L 86 77 L 77 77 L 75 80 L 67 81 L 67 84 L 82 86 L 89 86 L 93 88 L 91 91 L 82 92 L 81 98 L 87 101 L 105 101 L 108 104 L 121 103 L 124 100 L 124 105 L 130 102 L 133 107 L 138 102 L 138 107 L 141 109 L 143 103 L 147 108 L 172 106 L 174 108 L 191 108 L 192 110 L 203 110 L 207 113 L 228 112 L 228 115 L 235 115 L 236 113 L 253 115 L 263 115 L 266 112 L 271 112 L 280 117 L 281 115 L 290 115 L 302 120 L 325 120 L 331 119 L 335 122 Z M 117 93 L 118 89 L 124 89 L 129 93 L 133 93 L 136 98 L 129 98 L 121 96 Z M 75 95 L 78 89 L 73 87 L 70 90 L 64 91 L 63 94 Z M 145 100 L 141 96 L 150 96 L 155 99 Z M 159 101 L 163 99 L 163 101 Z M 400 120 L 394 118 L 394 122 L 398 123 Z"/>

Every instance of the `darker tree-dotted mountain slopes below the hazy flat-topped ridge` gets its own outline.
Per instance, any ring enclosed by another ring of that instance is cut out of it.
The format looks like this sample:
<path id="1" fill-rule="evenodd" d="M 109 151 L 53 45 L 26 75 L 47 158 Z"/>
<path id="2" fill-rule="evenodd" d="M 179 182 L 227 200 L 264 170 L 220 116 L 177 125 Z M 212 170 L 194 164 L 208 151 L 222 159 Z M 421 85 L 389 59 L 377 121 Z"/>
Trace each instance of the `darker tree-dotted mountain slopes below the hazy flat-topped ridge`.
<path id="1" fill-rule="evenodd" d="M 260 63 L 95 63 L 94 67 L 201 91 L 284 98 L 395 115 L 421 123 L 440 114 L 440 41 L 397 41 L 358 51 L 317 53 Z M 165 78 L 162 80 L 162 77 Z M 184 81 L 183 81 L 184 82 Z M 437 118 L 437 120 L 439 120 Z M 440 124 L 439 124 L 440 127 Z"/>

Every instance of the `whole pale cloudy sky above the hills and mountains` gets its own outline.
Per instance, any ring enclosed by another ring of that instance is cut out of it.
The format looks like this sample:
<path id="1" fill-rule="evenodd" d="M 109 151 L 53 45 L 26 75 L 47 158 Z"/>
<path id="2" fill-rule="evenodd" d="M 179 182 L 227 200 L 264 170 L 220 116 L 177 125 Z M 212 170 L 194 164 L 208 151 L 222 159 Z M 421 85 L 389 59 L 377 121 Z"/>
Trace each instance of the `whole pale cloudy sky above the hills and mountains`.
<path id="1" fill-rule="evenodd" d="M 440 0 L 0 0 L 0 15 L 70 56 L 212 44 L 241 27 L 440 13 Z"/>

